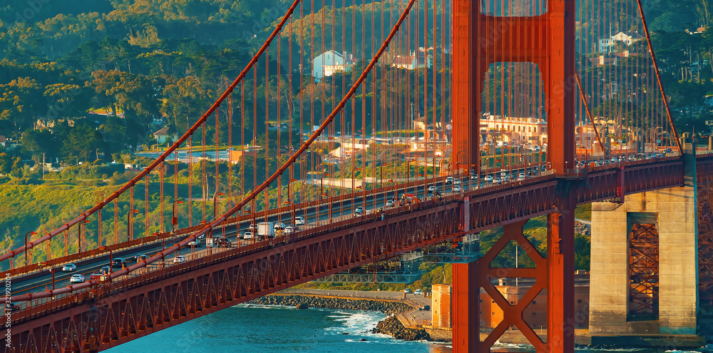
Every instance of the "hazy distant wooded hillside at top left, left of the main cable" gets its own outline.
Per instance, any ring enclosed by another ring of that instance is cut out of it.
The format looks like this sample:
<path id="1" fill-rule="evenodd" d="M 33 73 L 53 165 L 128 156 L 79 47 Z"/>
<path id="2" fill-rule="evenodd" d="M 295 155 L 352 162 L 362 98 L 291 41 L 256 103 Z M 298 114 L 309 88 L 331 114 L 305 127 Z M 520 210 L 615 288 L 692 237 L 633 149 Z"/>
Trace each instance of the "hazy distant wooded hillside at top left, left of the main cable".
<path id="1" fill-rule="evenodd" d="M 166 39 L 220 45 L 255 38 L 289 8 L 281 0 L 12 2 L 0 6 L 2 57 L 30 61 L 66 56 L 82 44 L 104 39 L 148 47 Z"/>

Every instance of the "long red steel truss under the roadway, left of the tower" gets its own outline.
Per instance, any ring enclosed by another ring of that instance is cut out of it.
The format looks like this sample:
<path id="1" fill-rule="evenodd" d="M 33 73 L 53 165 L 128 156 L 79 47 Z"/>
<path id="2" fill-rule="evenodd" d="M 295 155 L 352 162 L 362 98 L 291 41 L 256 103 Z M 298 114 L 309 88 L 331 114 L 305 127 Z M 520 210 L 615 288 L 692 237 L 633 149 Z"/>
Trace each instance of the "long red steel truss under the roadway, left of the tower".
<path id="1" fill-rule="evenodd" d="M 148 272 L 16 313 L 6 352 L 86 352 L 349 268 L 462 235 L 461 204 L 385 220 L 321 227 L 268 247 L 244 247 Z M 48 347 L 55 347 L 49 349 Z"/>

